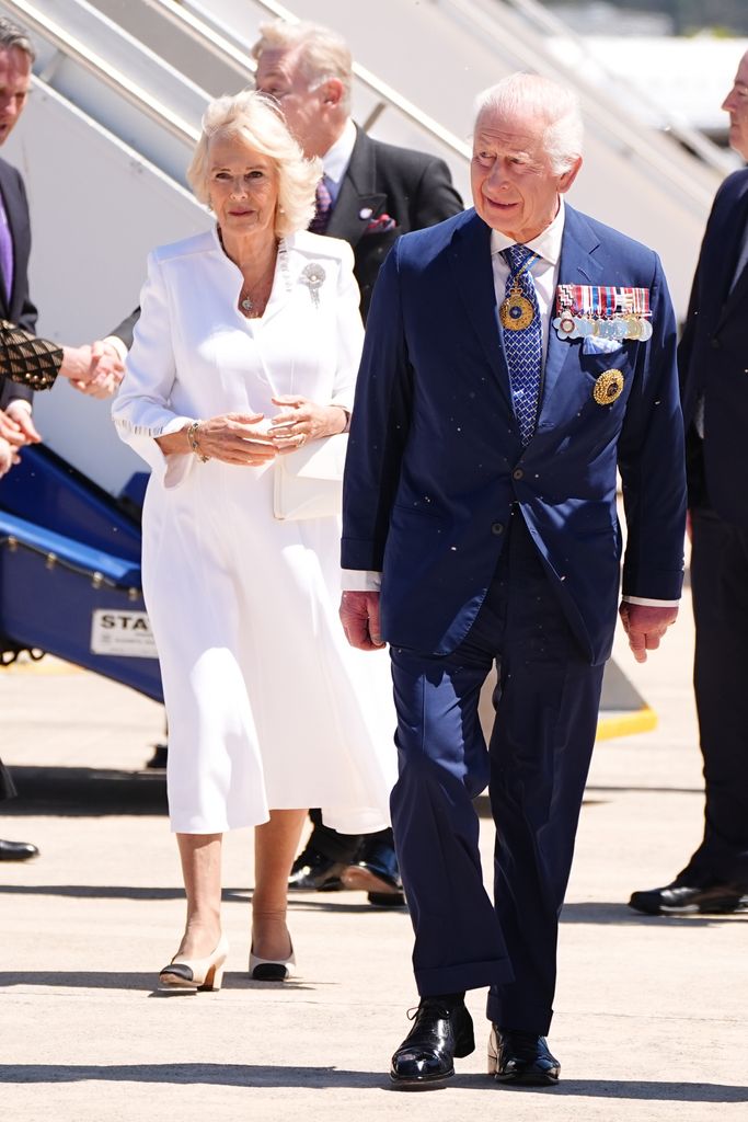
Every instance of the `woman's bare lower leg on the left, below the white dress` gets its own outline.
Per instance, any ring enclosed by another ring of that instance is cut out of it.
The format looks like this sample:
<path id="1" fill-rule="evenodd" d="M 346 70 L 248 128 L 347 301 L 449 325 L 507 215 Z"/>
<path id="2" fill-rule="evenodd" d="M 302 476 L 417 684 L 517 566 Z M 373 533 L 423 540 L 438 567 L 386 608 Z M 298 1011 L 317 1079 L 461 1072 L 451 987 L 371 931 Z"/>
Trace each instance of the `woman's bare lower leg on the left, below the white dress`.
<path id="1" fill-rule="evenodd" d="M 221 834 L 177 834 L 187 922 L 177 951 L 204 958 L 221 938 Z"/>

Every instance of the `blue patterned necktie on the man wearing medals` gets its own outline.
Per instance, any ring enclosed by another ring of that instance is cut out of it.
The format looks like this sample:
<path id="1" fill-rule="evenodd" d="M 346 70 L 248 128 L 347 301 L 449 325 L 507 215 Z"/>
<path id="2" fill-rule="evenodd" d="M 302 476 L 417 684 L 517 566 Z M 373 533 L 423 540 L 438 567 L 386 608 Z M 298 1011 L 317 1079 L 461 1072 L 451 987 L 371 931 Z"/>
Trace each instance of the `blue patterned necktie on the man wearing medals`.
<path id="1" fill-rule="evenodd" d="M 541 312 L 537 306 L 533 275 L 529 269 L 525 268 L 530 258 L 535 259 L 536 256 L 527 246 L 509 246 L 508 249 L 502 250 L 502 257 L 509 266 L 505 298 L 509 300 L 514 289 L 515 293 L 519 292 L 520 296 L 524 296 L 533 309 L 533 319 L 527 327 L 514 329 L 505 327 L 504 329 L 504 349 L 509 367 L 511 401 L 523 444 L 529 443 L 529 439 L 535 432 L 541 396 L 541 367 L 543 362 Z M 520 318 L 520 314 L 517 312 L 517 319 Z M 509 312 L 509 321 L 514 319 L 515 315 Z"/>

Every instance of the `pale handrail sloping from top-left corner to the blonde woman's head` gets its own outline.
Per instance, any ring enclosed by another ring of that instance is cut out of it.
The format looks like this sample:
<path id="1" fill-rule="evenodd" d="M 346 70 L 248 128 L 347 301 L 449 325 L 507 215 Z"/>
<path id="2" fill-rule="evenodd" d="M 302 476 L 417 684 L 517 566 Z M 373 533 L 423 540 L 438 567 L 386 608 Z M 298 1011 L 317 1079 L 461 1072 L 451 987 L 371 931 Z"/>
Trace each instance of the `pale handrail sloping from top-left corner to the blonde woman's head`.
<path id="1" fill-rule="evenodd" d="M 126 101 L 135 105 L 146 117 L 161 126 L 167 132 L 191 148 L 196 144 L 200 132 L 196 128 L 160 104 L 146 90 L 131 81 L 126 74 L 114 70 L 74 36 L 47 16 L 41 16 L 27 0 L 2 0 L 2 7 L 19 17 L 20 22 L 35 31 L 43 39 L 64 50 L 68 58 L 79 63 L 90 74 L 94 74 L 110 89 L 117 91 Z M 207 94 L 205 94 L 207 100 Z"/>

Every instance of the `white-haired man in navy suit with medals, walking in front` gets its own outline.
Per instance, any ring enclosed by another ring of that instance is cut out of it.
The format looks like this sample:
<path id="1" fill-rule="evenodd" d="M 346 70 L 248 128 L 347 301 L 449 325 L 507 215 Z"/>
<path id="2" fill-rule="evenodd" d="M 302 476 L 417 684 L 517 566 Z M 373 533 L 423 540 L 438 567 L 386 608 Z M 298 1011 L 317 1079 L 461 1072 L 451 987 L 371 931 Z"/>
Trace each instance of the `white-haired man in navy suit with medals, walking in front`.
<path id="1" fill-rule="evenodd" d="M 344 482 L 341 618 L 390 645 L 393 821 L 421 1003 L 397 1086 L 473 1050 L 553 1085 L 545 1036 L 563 903 L 619 597 L 644 661 L 675 619 L 685 473 L 675 321 L 652 250 L 563 201 L 574 95 L 514 75 L 479 103 L 474 209 L 406 234 L 375 289 Z M 487 746 L 478 695 L 498 663 Z M 495 900 L 472 799 L 488 783 Z"/>

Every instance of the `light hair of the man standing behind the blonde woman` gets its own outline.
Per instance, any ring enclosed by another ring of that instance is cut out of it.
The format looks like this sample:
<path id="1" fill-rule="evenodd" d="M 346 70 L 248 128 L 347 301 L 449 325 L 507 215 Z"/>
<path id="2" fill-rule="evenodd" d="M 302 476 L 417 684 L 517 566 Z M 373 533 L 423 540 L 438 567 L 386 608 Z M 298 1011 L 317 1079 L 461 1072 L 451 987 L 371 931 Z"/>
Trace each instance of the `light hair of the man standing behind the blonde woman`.
<path id="1" fill-rule="evenodd" d="M 342 107 L 350 112 L 353 58 L 351 48 L 342 36 L 318 24 L 289 24 L 285 19 L 274 19 L 260 24 L 260 38 L 253 45 L 253 58 L 265 50 L 290 50 L 298 55 L 299 70 L 316 90 L 329 79 L 336 77 L 343 84 Z"/>

